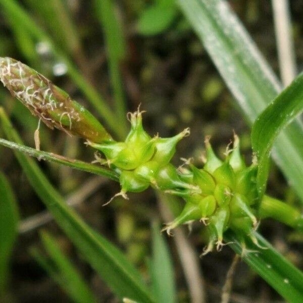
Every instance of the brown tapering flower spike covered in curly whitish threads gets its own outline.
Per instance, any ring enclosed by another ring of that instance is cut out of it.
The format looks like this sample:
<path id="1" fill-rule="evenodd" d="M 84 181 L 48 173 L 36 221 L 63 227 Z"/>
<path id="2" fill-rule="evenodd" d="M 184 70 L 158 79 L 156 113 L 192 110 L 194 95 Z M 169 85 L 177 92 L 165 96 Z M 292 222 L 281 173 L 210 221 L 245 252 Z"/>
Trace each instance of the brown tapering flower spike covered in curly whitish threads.
<path id="1" fill-rule="evenodd" d="M 80 104 L 27 65 L 0 57 L 0 80 L 12 95 L 48 127 L 102 142 L 111 140 L 104 127 Z"/>

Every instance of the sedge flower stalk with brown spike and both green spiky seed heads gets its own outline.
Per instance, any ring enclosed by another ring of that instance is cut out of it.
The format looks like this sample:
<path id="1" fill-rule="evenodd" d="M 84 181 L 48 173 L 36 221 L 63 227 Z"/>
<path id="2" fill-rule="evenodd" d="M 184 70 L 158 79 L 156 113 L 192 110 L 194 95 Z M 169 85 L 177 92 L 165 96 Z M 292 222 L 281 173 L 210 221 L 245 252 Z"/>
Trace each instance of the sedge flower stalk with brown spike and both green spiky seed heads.
<path id="1" fill-rule="evenodd" d="M 252 163 L 245 165 L 237 135 L 234 135 L 232 147 L 227 146 L 224 160 L 215 155 L 207 137 L 204 167 L 197 168 L 190 160 L 185 160 L 184 165 L 176 168 L 171 159 L 177 143 L 189 135 L 188 128 L 173 137 L 152 137 L 144 130 L 143 112 L 138 109 L 128 114 L 131 127 L 125 140 L 116 141 L 83 106 L 25 64 L 0 58 L 0 80 L 39 118 L 39 122 L 69 135 L 78 135 L 98 151 L 94 162 L 108 167 L 118 176 L 121 191 L 115 196 L 128 199 L 128 192 L 141 192 L 151 186 L 182 197 L 183 211 L 163 230 L 171 234 L 181 224 L 201 222 L 209 234 L 203 255 L 214 247 L 220 250 L 228 230 L 240 239 L 242 255 L 247 252 L 247 239 L 262 247 L 255 231 L 265 217 L 303 230 L 303 218 L 298 210 L 260 193 L 258 159 L 253 157 Z M 38 131 L 35 142 L 38 149 Z"/>

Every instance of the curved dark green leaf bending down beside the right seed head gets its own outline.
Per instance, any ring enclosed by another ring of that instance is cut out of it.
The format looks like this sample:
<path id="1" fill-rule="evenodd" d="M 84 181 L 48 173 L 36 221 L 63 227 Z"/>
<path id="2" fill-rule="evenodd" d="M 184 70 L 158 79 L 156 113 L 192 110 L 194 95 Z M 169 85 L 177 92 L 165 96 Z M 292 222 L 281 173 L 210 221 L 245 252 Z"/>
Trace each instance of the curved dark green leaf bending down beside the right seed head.
<path id="1" fill-rule="evenodd" d="M 258 159 L 257 186 L 261 195 L 266 189 L 269 156 L 274 141 L 302 110 L 303 74 L 300 74 L 270 103 L 252 127 L 251 145 Z"/>

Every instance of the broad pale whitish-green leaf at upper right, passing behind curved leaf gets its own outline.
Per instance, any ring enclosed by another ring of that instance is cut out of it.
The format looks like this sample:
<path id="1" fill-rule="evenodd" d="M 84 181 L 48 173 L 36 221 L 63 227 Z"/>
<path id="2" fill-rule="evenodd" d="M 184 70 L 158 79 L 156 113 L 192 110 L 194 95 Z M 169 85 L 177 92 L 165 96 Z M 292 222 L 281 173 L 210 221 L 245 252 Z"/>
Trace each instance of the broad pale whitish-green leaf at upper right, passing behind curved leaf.
<path id="1" fill-rule="evenodd" d="M 281 90 L 272 69 L 222 0 L 178 1 L 251 124 Z M 279 135 L 273 157 L 303 203 L 303 128 L 294 121 Z"/>

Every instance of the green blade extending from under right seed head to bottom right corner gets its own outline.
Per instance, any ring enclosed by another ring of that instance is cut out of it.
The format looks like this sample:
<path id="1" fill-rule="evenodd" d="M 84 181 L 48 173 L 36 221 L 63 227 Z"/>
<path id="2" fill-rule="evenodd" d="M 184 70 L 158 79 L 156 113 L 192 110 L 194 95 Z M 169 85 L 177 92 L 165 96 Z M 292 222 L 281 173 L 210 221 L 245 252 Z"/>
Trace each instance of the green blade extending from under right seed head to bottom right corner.
<path id="1" fill-rule="evenodd" d="M 242 259 L 288 302 L 301 302 L 303 273 L 280 255 L 260 234 L 256 232 L 255 235 L 264 248 L 249 243 Z M 234 233 L 228 231 L 225 239 L 232 242 L 230 246 L 237 254 L 242 254 L 241 241 Z"/>

